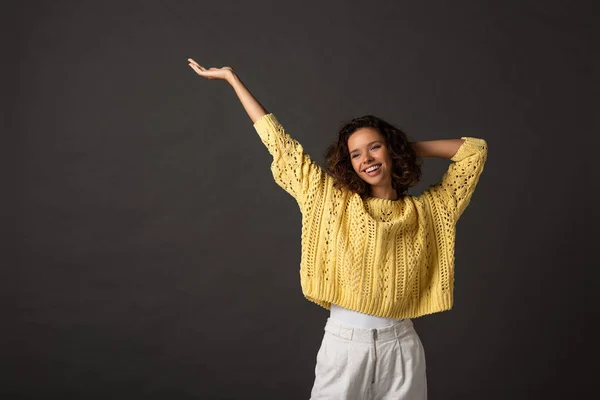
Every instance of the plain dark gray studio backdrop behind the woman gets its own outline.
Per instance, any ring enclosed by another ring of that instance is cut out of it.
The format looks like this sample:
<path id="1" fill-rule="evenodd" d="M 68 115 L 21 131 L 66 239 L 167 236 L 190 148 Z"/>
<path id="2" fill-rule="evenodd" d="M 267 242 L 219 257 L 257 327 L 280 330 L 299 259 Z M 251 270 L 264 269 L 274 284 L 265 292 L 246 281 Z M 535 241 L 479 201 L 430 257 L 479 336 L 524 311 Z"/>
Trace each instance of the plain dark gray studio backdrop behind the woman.
<path id="1" fill-rule="evenodd" d="M 588 398 L 591 4 L 5 6 L 2 397 L 309 397 L 328 312 L 300 290 L 300 212 L 234 91 L 193 57 L 232 66 L 320 164 L 368 113 L 411 140 L 486 139 L 454 307 L 413 320 L 430 398 Z M 447 166 L 426 159 L 411 194 Z"/>

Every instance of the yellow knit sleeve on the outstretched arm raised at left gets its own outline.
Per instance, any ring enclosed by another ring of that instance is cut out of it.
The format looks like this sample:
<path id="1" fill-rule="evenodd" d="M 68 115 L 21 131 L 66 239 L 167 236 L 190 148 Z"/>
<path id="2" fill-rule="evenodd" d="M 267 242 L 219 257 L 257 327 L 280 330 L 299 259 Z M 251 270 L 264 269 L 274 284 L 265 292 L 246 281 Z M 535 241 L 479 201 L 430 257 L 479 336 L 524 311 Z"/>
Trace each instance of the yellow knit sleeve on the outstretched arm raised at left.
<path id="1" fill-rule="evenodd" d="M 275 182 L 296 199 L 302 212 L 307 211 L 316 194 L 322 193 L 325 172 L 272 113 L 260 117 L 254 128 L 273 156 L 271 172 Z"/>

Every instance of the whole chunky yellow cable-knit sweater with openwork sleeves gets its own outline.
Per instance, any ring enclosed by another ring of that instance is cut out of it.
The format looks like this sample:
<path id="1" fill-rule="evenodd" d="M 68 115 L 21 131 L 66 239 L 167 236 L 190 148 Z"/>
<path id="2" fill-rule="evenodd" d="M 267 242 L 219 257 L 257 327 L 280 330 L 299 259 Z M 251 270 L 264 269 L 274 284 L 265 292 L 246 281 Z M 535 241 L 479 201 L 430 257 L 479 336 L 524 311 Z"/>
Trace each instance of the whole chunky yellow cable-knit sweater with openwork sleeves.
<path id="1" fill-rule="evenodd" d="M 452 308 L 456 222 L 483 171 L 485 140 L 462 137 L 443 178 L 419 196 L 363 200 L 335 189 L 272 113 L 254 128 L 273 156 L 275 182 L 302 213 L 300 283 L 308 300 L 385 318 Z"/>

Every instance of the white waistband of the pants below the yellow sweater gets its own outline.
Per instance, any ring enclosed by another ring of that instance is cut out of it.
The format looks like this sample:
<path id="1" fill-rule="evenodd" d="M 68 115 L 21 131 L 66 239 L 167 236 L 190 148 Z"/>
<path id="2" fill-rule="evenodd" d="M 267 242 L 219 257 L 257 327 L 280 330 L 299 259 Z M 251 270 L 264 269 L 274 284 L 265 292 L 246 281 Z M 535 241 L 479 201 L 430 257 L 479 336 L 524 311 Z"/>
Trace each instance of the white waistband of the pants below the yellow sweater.
<path id="1" fill-rule="evenodd" d="M 410 318 L 405 318 L 393 325 L 384 326 L 383 328 L 355 328 L 330 317 L 327 318 L 324 329 L 326 332 L 343 339 L 361 343 L 371 343 L 373 341 L 387 342 L 389 340 L 401 338 L 407 333 L 413 332 L 414 326 Z"/>

